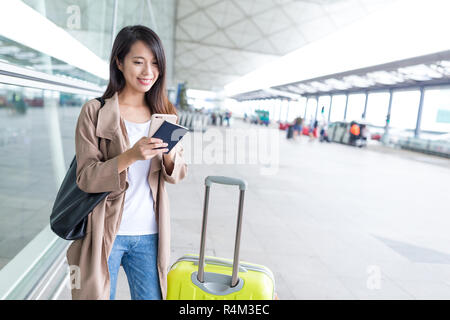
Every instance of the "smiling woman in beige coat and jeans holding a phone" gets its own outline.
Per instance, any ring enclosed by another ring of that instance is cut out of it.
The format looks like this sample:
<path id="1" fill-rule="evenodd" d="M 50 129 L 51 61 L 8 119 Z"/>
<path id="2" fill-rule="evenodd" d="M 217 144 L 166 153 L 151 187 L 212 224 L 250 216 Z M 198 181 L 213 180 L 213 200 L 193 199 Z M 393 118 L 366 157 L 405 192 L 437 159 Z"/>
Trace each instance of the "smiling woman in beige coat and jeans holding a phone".
<path id="1" fill-rule="evenodd" d="M 77 185 L 110 194 L 89 214 L 86 236 L 67 251 L 72 299 L 114 299 L 120 265 L 132 299 L 166 297 L 170 217 L 164 182 L 177 183 L 187 167 L 181 143 L 167 153 L 167 143 L 147 137 L 153 113 L 176 114 L 165 81 L 159 37 L 144 26 L 123 28 L 111 52 L 105 104 L 85 103 L 76 127 Z"/>

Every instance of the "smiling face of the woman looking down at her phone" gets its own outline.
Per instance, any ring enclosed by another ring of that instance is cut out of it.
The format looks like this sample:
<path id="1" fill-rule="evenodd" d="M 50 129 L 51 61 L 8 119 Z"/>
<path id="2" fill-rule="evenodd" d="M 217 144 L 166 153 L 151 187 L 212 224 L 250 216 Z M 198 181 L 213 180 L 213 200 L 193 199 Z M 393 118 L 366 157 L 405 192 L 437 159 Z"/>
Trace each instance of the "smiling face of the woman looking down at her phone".
<path id="1" fill-rule="evenodd" d="M 145 93 L 158 79 L 159 70 L 156 58 L 140 40 L 131 46 L 123 64 L 117 58 L 116 63 L 125 77 L 126 86 L 133 91 Z"/>

